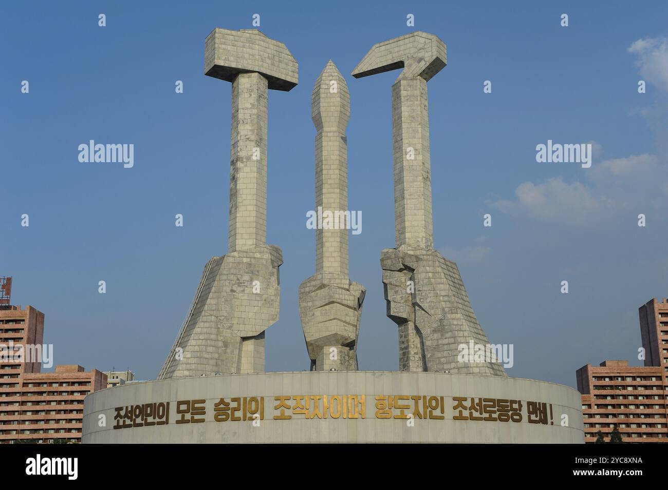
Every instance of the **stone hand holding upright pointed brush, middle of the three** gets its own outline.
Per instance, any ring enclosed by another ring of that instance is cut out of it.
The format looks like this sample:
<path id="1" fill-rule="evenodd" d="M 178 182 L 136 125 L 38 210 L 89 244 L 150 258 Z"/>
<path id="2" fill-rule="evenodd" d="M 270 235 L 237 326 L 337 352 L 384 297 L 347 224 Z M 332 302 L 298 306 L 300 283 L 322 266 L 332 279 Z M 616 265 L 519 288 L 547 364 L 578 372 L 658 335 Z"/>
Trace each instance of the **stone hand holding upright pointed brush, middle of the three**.
<path id="1" fill-rule="evenodd" d="M 317 130 L 315 207 L 323 213 L 347 211 L 345 127 L 350 119 L 350 94 L 331 60 L 313 86 L 311 117 Z M 311 371 L 357 371 L 357 338 L 366 289 L 349 279 L 347 225 L 344 218 L 339 227 L 316 230 L 315 275 L 299 287 L 299 313 Z"/>

